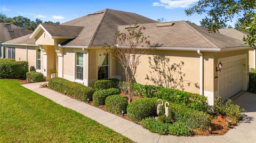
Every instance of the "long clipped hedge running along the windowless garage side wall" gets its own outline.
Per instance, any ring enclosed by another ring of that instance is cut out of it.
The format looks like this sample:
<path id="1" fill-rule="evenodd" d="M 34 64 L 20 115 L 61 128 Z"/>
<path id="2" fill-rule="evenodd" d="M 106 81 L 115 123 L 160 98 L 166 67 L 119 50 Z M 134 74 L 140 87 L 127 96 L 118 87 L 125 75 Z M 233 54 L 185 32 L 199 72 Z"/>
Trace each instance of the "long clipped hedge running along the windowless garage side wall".
<path id="1" fill-rule="evenodd" d="M 171 103 L 183 104 L 199 111 L 207 111 L 209 106 L 207 97 L 199 94 L 151 85 L 141 85 L 140 83 L 134 83 L 133 88 L 135 95 L 143 95 L 150 98 L 157 97 Z"/>

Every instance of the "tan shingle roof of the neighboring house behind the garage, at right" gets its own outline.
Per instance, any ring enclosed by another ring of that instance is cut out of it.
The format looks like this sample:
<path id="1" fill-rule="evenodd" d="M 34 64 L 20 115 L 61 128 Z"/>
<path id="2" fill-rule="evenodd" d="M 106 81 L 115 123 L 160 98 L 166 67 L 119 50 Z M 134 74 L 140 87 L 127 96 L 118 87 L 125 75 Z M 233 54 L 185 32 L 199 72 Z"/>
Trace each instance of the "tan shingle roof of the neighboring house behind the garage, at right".
<path id="1" fill-rule="evenodd" d="M 242 32 L 240 30 L 236 30 L 234 28 L 228 28 L 228 29 L 219 29 L 219 32 L 222 33 L 223 35 L 227 35 L 229 37 L 238 39 L 238 40 L 243 40 L 244 36 L 247 36 L 247 33 Z"/>

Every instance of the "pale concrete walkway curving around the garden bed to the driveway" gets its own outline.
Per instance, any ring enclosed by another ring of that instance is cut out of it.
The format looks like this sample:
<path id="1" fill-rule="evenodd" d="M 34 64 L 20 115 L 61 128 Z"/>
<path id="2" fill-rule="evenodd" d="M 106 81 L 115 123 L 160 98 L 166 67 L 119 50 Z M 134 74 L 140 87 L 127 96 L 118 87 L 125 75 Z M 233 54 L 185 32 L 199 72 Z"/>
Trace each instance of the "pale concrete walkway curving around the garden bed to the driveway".
<path id="1" fill-rule="evenodd" d="M 151 133 L 147 129 L 142 128 L 141 125 L 100 110 L 97 107 L 93 107 L 89 104 L 62 95 L 51 89 L 39 88 L 39 85 L 41 84 L 42 82 L 30 83 L 22 86 L 33 90 L 34 92 L 37 92 L 38 94 L 41 94 L 62 106 L 68 107 L 71 110 L 90 117 L 91 119 L 121 133 L 123 136 L 126 136 L 135 142 L 256 142 L 256 122 L 252 119 L 253 117 L 256 119 L 256 94 L 245 92 L 242 96 L 239 96 L 234 100 L 236 104 L 241 105 L 247 110 L 247 115 L 250 116 L 247 117 L 247 119 L 250 119 L 250 121 L 243 121 L 236 128 L 229 130 L 224 136 L 176 137 L 160 136 L 157 133 Z"/>

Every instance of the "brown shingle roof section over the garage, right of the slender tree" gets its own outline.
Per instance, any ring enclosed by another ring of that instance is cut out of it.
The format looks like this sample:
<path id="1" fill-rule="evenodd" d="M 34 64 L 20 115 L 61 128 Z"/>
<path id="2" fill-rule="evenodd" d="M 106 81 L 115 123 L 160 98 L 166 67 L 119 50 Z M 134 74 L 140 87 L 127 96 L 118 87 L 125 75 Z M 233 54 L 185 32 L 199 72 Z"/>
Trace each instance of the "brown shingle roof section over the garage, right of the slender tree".
<path id="1" fill-rule="evenodd" d="M 146 27 L 143 35 L 149 36 L 151 44 L 163 44 L 163 47 L 189 48 L 229 48 L 245 47 L 243 41 L 231 38 L 221 33 L 209 33 L 206 28 L 196 26 L 186 21 L 173 21 L 169 27 L 156 27 L 159 23 L 139 24 Z M 164 24 L 161 23 L 161 24 Z M 128 26 L 128 25 L 127 25 Z M 118 30 L 126 32 L 127 26 L 119 26 Z"/>

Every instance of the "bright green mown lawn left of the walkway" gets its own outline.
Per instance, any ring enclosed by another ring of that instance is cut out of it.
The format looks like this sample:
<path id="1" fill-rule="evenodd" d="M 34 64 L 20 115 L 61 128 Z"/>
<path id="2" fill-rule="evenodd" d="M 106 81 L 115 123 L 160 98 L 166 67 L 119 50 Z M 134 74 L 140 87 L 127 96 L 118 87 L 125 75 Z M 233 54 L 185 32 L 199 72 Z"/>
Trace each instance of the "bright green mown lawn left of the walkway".
<path id="1" fill-rule="evenodd" d="M 20 85 L 0 80 L 0 142 L 132 142 Z"/>

